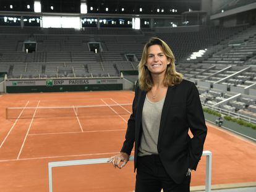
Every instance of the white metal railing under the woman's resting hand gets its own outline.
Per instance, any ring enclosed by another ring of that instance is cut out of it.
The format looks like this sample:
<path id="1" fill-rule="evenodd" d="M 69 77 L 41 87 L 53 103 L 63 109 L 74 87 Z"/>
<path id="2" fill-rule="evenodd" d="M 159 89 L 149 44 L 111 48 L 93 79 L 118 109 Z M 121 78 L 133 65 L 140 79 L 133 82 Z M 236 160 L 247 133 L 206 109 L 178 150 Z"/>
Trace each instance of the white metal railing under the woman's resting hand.
<path id="1" fill-rule="evenodd" d="M 203 155 L 206 156 L 206 176 L 205 176 L 205 192 L 211 191 L 211 151 L 203 151 Z M 134 161 L 134 156 L 131 156 L 129 161 Z M 106 164 L 108 158 L 103 159 L 84 159 L 75 161 L 57 161 L 48 163 L 49 171 L 49 192 L 53 192 L 53 167 L 66 167 L 74 165 L 92 165 L 92 164 Z"/>

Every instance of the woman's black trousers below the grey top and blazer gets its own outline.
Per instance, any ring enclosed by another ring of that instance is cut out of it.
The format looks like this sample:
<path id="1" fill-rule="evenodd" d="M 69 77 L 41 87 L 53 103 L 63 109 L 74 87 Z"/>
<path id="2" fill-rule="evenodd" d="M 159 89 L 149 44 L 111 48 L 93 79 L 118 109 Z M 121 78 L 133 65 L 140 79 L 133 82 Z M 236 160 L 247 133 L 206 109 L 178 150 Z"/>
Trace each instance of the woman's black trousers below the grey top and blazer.
<path id="1" fill-rule="evenodd" d="M 158 155 L 138 157 L 135 192 L 189 192 L 191 176 L 177 184 L 169 177 Z"/>

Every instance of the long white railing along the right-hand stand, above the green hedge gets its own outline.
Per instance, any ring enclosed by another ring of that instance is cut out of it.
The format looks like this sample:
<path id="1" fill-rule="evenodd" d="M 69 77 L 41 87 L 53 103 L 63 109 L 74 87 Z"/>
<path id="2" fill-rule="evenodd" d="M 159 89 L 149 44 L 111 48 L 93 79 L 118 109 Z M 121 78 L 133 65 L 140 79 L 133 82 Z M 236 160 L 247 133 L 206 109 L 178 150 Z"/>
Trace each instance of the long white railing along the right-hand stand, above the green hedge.
<path id="1" fill-rule="evenodd" d="M 228 111 L 226 109 L 221 109 L 220 107 L 210 106 L 210 105 L 205 104 L 205 103 L 202 103 L 202 106 L 207 107 L 208 109 L 211 109 L 213 111 L 220 112 L 221 114 L 224 114 L 224 115 L 229 115 L 231 117 L 242 119 L 242 120 L 245 120 L 245 121 L 250 122 L 250 123 L 256 123 L 255 118 L 252 118 L 252 117 L 249 117 L 249 116 L 246 116 L 246 115 L 238 114 L 236 112 Z"/>

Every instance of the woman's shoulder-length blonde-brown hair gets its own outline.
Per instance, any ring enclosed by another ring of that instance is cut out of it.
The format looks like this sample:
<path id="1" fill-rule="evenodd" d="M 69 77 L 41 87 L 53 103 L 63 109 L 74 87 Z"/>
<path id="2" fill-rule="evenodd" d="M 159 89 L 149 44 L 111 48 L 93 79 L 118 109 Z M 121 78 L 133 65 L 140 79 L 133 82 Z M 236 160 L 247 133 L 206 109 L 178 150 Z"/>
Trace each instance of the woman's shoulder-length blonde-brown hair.
<path id="1" fill-rule="evenodd" d="M 151 73 L 145 64 L 147 64 L 148 48 L 155 44 L 158 44 L 161 47 L 168 61 L 170 61 L 170 64 L 167 65 L 165 78 L 163 81 L 164 86 L 177 85 L 182 81 L 182 74 L 177 73 L 175 70 L 173 51 L 171 51 L 171 48 L 169 48 L 168 44 L 166 44 L 163 40 L 153 37 L 148 41 L 148 43 L 145 44 L 142 52 L 142 59 L 140 59 L 139 63 L 139 86 L 143 91 L 150 91 L 153 86 Z"/>

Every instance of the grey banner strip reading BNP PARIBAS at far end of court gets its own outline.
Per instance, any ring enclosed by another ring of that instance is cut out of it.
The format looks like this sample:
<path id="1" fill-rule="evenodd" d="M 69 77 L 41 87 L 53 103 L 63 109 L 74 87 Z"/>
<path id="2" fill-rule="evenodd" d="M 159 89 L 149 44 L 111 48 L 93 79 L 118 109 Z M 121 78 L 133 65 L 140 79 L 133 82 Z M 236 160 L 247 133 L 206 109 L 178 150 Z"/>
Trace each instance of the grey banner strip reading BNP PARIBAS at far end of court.
<path id="1" fill-rule="evenodd" d="M 56 86 L 56 85 L 95 85 L 122 84 L 122 78 L 104 79 L 46 79 L 46 80 L 7 80 L 6 86 Z"/>

